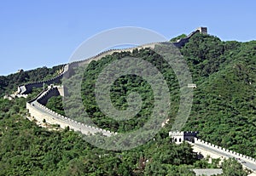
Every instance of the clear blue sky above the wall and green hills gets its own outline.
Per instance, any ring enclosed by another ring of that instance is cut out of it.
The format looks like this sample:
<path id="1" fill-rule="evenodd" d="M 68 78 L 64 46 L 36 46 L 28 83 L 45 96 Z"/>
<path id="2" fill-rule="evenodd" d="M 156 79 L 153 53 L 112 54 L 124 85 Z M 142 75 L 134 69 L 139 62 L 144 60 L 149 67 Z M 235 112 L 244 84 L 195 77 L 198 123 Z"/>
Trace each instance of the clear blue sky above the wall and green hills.
<path id="1" fill-rule="evenodd" d="M 256 1 L 13 1 L 0 2 L 0 75 L 65 64 L 96 33 L 138 26 L 167 38 L 198 26 L 222 40 L 256 40 Z"/>

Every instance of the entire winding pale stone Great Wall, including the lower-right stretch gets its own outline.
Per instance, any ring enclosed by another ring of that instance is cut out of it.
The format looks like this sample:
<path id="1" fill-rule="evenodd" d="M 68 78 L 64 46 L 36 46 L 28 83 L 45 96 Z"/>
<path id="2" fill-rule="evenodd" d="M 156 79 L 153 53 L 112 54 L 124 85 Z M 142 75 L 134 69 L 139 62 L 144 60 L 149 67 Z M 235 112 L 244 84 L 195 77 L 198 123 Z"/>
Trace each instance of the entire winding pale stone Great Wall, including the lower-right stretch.
<path id="1" fill-rule="evenodd" d="M 195 33 L 201 32 L 201 33 L 207 33 L 207 29 L 205 28 L 199 28 L 193 32 L 191 32 L 187 37 L 178 40 L 176 43 L 173 43 L 174 46 L 177 48 L 183 47 L 185 43 L 189 42 L 189 38 L 192 37 Z M 154 45 L 157 43 L 149 43 L 145 44 L 136 48 L 154 48 Z M 32 91 L 32 88 L 43 88 L 44 84 L 58 84 L 61 83 L 62 77 L 64 77 L 65 74 L 68 73 L 68 71 L 76 66 L 89 64 L 91 60 L 100 60 L 102 57 L 113 54 L 114 52 L 125 52 L 125 51 L 132 51 L 134 48 L 125 48 L 125 49 L 110 49 L 108 51 L 104 51 L 101 54 L 97 54 L 94 57 L 91 57 L 87 60 L 81 60 L 81 61 L 75 61 L 68 65 L 65 65 L 63 68 L 63 71 L 60 75 L 57 77 L 54 77 L 52 79 L 49 79 L 47 81 L 42 82 L 31 82 L 27 83 L 25 85 L 20 85 L 18 87 L 18 91 L 16 96 L 26 96 L 26 94 L 30 94 Z M 68 76 L 70 77 L 70 76 Z M 38 96 L 35 99 L 32 99 L 26 103 L 26 109 L 30 113 L 30 116 L 33 116 L 34 119 L 36 119 L 38 122 L 47 122 L 49 124 L 58 124 L 61 128 L 67 128 L 73 129 L 74 131 L 79 131 L 84 134 L 94 134 L 94 133 L 102 133 L 103 135 L 110 136 L 113 135 L 113 132 L 110 132 L 108 130 L 104 130 L 102 128 L 95 128 L 89 125 L 86 125 L 82 122 L 74 121 L 73 119 L 68 118 L 67 116 L 61 116 L 60 114 L 56 113 L 55 111 L 49 110 L 45 106 L 47 100 L 52 96 L 57 96 L 63 93 L 63 90 L 61 90 L 60 86 L 55 87 L 49 87 L 46 90 L 44 90 L 42 93 L 38 94 Z M 209 155 L 212 156 L 212 158 L 227 158 L 227 157 L 234 157 L 234 158 L 241 158 L 243 161 L 246 161 L 247 163 L 251 163 L 249 167 L 246 163 L 241 163 L 243 167 L 247 167 L 250 170 L 253 170 L 253 172 L 256 171 L 256 160 L 249 156 L 244 156 L 239 153 L 236 153 L 231 150 L 226 150 L 222 147 L 219 147 L 217 145 L 212 145 L 211 143 L 208 143 L 204 140 L 195 138 L 195 142 L 191 143 L 189 142 L 193 149 L 196 152 L 204 153 L 205 156 Z"/>

